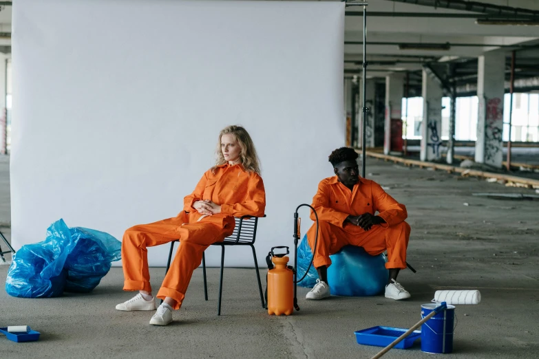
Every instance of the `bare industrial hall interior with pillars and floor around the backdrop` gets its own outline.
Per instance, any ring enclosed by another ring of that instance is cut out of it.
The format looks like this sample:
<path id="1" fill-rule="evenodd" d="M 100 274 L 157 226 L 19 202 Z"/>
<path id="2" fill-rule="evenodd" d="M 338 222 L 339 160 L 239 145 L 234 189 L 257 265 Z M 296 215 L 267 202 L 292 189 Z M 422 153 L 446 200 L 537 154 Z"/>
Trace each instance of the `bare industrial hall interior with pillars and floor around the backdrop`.
<path id="1" fill-rule="evenodd" d="M 0 231 L 8 240 L 12 6 L 0 1 Z M 345 24 L 344 140 L 365 155 L 363 175 L 408 209 L 408 262 L 417 272 L 403 270 L 399 281 L 412 298 L 305 301 L 300 287 L 299 312 L 268 316 L 253 268 L 226 268 L 217 316 L 219 268 L 207 270 L 209 301 L 199 268 L 172 325 L 136 327 L 143 313 L 111 309 L 124 298 L 122 270 L 112 268 L 85 295 L 21 299 L 0 290 L 0 327 L 32 323 L 42 333 L 32 343 L 0 336 L 1 355 L 370 358 L 381 348 L 358 345 L 355 331 L 408 328 L 436 290 L 479 290 L 480 303 L 456 306 L 447 356 L 539 358 L 539 1 L 347 1 Z M 1 264 L 3 287 L 9 265 Z M 156 283 L 165 275 L 150 272 Z M 432 355 L 416 343 L 384 357 Z"/>

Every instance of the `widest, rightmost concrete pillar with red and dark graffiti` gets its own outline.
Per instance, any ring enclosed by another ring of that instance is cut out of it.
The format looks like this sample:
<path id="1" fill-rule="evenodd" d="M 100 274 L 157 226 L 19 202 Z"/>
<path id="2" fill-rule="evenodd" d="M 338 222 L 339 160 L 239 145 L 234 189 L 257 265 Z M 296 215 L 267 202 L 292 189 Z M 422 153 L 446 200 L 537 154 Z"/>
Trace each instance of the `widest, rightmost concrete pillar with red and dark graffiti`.
<path id="1" fill-rule="evenodd" d="M 478 59 L 477 141 L 475 160 L 497 168 L 503 161 L 505 53 L 487 52 Z"/>

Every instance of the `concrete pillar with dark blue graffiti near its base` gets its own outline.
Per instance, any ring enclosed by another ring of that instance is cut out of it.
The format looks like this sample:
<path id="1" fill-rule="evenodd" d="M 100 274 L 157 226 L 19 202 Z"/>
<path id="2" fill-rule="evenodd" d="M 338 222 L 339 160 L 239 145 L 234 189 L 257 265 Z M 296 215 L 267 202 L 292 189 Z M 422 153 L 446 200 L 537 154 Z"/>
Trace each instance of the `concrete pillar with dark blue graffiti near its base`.
<path id="1" fill-rule="evenodd" d="M 423 120 L 421 121 L 421 161 L 441 158 L 442 144 L 442 97 L 440 84 L 423 69 Z"/>

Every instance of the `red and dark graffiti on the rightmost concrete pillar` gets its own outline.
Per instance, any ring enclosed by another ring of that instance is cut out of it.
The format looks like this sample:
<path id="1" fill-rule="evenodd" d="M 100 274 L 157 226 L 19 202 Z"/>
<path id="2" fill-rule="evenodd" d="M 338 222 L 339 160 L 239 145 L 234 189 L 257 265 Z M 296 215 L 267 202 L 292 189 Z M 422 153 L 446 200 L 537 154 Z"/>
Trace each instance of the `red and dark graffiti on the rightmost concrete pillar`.
<path id="1" fill-rule="evenodd" d="M 489 98 L 485 116 L 485 160 L 493 162 L 502 151 L 503 102 L 501 98 Z"/>

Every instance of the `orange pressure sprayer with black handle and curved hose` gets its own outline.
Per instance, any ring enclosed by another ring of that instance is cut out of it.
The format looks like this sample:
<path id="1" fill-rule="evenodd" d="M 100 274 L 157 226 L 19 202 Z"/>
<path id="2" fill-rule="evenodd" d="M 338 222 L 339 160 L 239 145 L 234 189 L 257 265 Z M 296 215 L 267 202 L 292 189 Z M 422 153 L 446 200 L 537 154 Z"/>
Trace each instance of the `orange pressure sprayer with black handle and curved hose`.
<path id="1" fill-rule="evenodd" d="M 318 243 L 318 215 L 315 208 L 308 204 L 301 204 L 296 208 L 294 213 L 294 254 L 295 263 L 297 263 L 297 242 L 299 241 L 299 222 L 301 219 L 297 217 L 297 210 L 302 206 L 308 206 L 313 213 L 315 213 L 317 224 L 317 235 L 315 238 L 315 249 Z M 275 253 L 276 249 L 286 248 L 286 253 Z M 316 252 L 316 251 L 314 251 Z M 276 316 L 287 315 L 289 316 L 294 312 L 294 308 L 299 310 L 297 305 L 297 283 L 301 282 L 308 274 L 310 265 L 313 264 L 313 259 L 310 260 L 309 266 L 302 279 L 297 280 L 297 270 L 288 264 L 289 258 L 286 254 L 289 254 L 289 248 L 286 246 L 278 246 L 271 248 L 271 252 L 266 257 L 266 263 L 268 264 L 268 274 L 266 280 L 268 286 L 266 287 L 266 309 L 268 314 L 275 314 Z M 275 265 L 275 266 L 274 266 Z"/>

